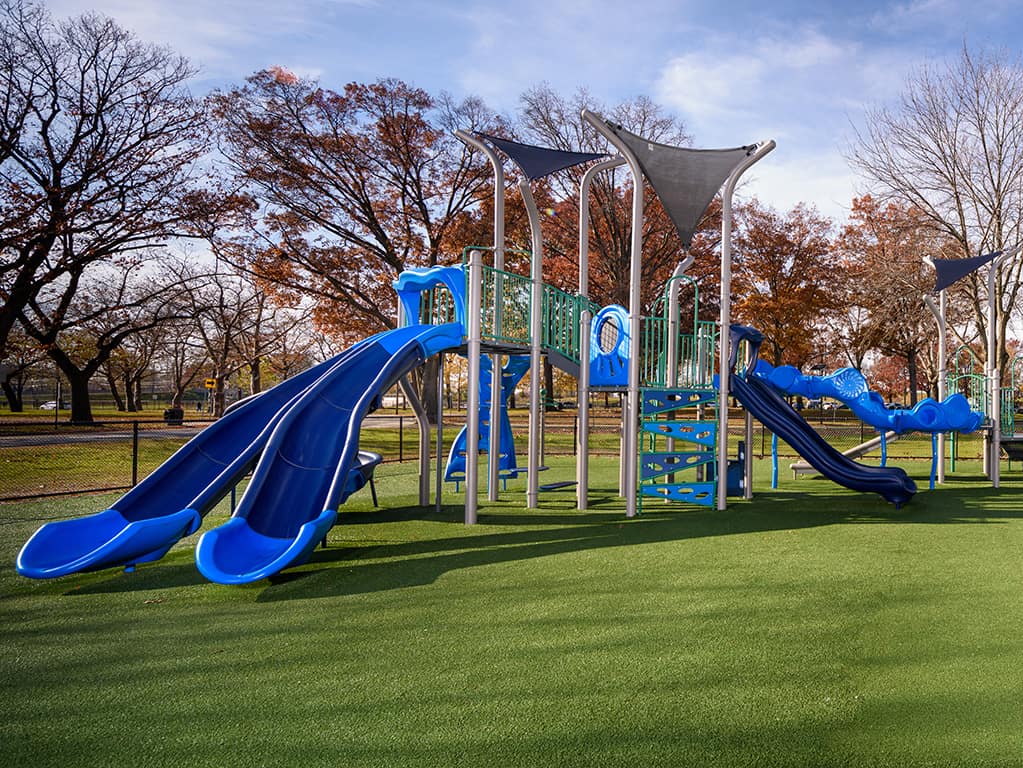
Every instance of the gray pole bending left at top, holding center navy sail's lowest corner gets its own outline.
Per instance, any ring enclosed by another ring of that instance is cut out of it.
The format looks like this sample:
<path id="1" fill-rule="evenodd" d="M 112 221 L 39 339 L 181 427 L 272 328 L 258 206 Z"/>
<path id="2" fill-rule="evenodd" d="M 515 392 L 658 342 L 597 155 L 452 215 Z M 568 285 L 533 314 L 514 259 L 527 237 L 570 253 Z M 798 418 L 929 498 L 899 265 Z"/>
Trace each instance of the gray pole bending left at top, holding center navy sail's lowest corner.
<path id="1" fill-rule="evenodd" d="M 529 456 L 527 458 L 526 507 L 536 509 L 540 504 L 540 343 L 543 334 L 543 238 L 540 234 L 540 212 L 529 188 L 529 180 L 519 182 L 529 231 L 532 235 L 530 256 L 530 281 L 532 290 L 529 303 Z"/>

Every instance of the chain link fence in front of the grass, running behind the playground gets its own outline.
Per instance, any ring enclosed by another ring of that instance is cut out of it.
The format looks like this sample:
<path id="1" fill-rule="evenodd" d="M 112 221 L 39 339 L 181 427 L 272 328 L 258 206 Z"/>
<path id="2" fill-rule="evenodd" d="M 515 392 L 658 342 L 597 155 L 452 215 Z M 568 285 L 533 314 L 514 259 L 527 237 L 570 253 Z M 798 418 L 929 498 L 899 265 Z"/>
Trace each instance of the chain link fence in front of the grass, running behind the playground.
<path id="1" fill-rule="evenodd" d="M 729 453 L 743 438 L 740 418 L 729 428 Z M 127 490 L 155 469 L 190 438 L 208 426 L 209 420 L 184 419 L 180 424 L 163 420 L 120 420 L 72 425 L 54 420 L 9 418 L 0 421 L 0 501 L 39 498 L 94 491 Z M 445 413 L 444 458 L 464 424 L 461 412 Z M 875 437 L 877 433 L 858 422 L 825 422 L 813 427 L 838 450 L 844 451 Z M 511 413 L 519 464 L 525 464 L 528 414 Z M 542 450 L 545 456 L 569 456 L 577 452 L 578 417 L 575 411 L 548 412 L 543 416 Z M 614 409 L 594 410 L 590 417 L 589 451 L 594 456 L 617 456 L 621 441 L 621 415 Z M 436 437 L 431 448 L 436 450 Z M 414 416 L 377 412 L 366 417 L 360 448 L 375 451 L 386 462 L 415 462 L 418 427 Z M 951 451 L 949 442 L 949 451 Z M 770 456 L 771 434 L 760 424 L 753 431 L 750 450 L 756 458 Z M 960 458 L 979 458 L 982 439 L 963 436 L 955 444 Z M 797 458 L 784 441 L 779 455 Z M 871 454 L 880 455 L 880 451 Z M 910 434 L 888 445 L 891 458 L 930 459 L 931 436 Z M 866 458 L 864 460 L 871 460 Z"/>

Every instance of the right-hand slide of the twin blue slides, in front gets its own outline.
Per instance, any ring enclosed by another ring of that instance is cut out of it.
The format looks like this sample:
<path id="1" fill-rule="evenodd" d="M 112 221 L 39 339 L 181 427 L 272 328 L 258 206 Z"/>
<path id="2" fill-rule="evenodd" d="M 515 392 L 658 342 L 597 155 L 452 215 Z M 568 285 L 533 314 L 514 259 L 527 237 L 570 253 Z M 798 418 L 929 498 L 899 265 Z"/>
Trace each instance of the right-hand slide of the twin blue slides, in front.
<path id="1" fill-rule="evenodd" d="M 305 562 L 350 492 L 363 417 L 401 376 L 461 343 L 457 322 L 387 331 L 309 387 L 274 427 L 234 514 L 199 539 L 203 575 L 247 584 Z"/>

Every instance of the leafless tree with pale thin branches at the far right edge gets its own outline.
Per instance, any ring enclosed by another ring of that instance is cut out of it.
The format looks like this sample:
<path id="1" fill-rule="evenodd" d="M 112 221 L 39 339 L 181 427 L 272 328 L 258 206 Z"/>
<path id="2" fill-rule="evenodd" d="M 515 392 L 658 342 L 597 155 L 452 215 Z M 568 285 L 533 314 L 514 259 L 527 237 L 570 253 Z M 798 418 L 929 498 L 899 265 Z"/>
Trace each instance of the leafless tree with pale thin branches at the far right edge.
<path id="1" fill-rule="evenodd" d="M 962 257 L 1023 243 L 1023 65 L 1008 54 L 965 46 L 944 66 L 923 66 L 899 101 L 866 112 L 849 161 L 885 199 L 926 217 Z M 1023 260 L 996 284 L 997 325 L 1020 298 Z M 983 277 L 970 278 L 974 321 L 986 332 Z M 1002 363 L 1006 353 L 1000 352 Z"/>

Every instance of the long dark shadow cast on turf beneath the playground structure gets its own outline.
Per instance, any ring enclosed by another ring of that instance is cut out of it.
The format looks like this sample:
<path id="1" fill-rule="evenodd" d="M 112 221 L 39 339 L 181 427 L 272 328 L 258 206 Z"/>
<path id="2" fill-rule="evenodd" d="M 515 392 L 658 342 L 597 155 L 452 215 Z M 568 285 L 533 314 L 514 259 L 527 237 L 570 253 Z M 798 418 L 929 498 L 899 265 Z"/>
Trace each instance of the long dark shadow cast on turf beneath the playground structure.
<path id="1" fill-rule="evenodd" d="M 336 541 L 317 550 L 303 569 L 271 578 L 257 599 L 310 599 L 421 586 L 451 571 L 604 547 L 844 524 L 997 525 L 1023 517 L 1016 492 L 986 490 L 978 493 L 976 488 L 948 488 L 938 494 L 922 493 L 900 510 L 881 506 L 875 497 L 864 494 L 775 491 L 760 495 L 755 503 L 736 503 L 725 512 L 680 512 L 677 506 L 652 511 L 648 504 L 644 513 L 631 521 L 617 509 L 481 511 L 477 527 L 455 536 L 352 545 Z M 363 523 L 430 519 L 460 524 L 462 513 L 461 506 L 444 506 L 440 513 L 434 508 L 425 512 L 421 507 L 357 512 L 344 515 L 335 535 L 340 532 L 343 538 L 345 526 Z M 502 531 L 504 527 L 528 530 Z"/>

